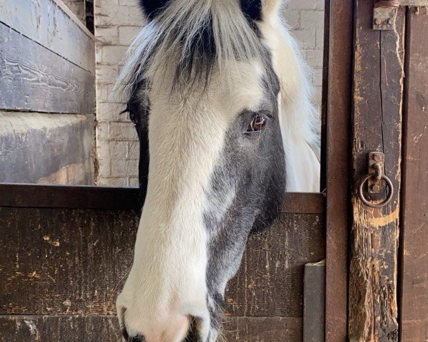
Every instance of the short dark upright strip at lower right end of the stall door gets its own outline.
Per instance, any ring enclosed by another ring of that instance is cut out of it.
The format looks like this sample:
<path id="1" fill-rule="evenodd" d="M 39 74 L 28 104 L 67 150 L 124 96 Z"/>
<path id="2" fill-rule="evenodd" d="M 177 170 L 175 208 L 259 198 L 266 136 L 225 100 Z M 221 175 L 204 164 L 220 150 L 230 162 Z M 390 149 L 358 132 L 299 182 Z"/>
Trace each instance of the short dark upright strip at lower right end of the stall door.
<path id="1" fill-rule="evenodd" d="M 303 342 L 325 341 L 325 260 L 305 265 Z"/>

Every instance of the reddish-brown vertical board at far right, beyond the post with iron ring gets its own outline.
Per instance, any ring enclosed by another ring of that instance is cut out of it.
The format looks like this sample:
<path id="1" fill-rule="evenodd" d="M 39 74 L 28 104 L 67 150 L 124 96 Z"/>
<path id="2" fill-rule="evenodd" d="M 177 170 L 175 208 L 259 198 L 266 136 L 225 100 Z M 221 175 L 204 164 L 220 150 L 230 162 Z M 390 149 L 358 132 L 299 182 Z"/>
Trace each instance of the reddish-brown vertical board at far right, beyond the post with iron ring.
<path id="1" fill-rule="evenodd" d="M 428 341 L 428 9 L 407 15 L 401 341 Z"/>

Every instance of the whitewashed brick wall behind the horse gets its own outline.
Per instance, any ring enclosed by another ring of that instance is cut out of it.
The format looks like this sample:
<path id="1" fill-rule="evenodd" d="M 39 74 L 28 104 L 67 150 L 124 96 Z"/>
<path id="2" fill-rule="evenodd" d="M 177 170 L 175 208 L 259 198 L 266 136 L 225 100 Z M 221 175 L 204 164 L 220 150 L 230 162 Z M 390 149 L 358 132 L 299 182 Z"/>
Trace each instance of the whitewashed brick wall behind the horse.
<path id="1" fill-rule="evenodd" d="M 138 0 L 95 0 L 98 185 L 138 185 L 138 137 L 113 86 L 126 48 L 143 24 Z M 321 102 L 324 0 L 289 0 L 284 17 L 313 68 Z"/>

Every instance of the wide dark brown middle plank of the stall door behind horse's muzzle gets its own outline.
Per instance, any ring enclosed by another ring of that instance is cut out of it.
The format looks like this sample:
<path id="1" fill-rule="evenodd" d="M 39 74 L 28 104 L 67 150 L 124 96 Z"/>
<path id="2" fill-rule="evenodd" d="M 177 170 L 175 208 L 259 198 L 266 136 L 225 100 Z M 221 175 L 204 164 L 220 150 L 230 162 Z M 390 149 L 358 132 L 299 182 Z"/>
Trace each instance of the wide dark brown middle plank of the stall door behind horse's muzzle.
<path id="1" fill-rule="evenodd" d="M 136 211 L 0 208 L 0 314 L 114 314 Z M 322 217 L 282 214 L 253 234 L 228 314 L 302 316 L 303 269 L 324 257 Z"/>

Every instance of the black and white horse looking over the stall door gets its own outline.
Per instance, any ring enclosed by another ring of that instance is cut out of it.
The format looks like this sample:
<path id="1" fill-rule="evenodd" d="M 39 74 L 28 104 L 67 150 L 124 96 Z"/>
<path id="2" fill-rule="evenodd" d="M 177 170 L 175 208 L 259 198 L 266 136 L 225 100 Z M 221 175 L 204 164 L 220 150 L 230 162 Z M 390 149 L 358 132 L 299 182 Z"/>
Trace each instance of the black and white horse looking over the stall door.
<path id="1" fill-rule="evenodd" d="M 143 208 L 117 299 L 127 341 L 218 341 L 225 287 L 285 192 L 317 192 L 319 118 L 280 0 L 141 0 L 118 84 Z"/>

